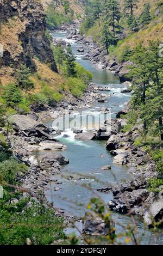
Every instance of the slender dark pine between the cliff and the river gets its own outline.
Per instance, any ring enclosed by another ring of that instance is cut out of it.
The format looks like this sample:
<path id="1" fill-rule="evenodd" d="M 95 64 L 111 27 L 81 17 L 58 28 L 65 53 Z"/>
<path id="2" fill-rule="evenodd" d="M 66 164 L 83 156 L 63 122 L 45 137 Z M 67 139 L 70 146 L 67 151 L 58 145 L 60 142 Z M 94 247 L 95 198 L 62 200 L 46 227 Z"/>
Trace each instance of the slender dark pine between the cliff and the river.
<path id="1" fill-rule="evenodd" d="M 76 76 L 76 58 L 71 50 L 71 46 L 67 47 L 67 56 L 66 56 L 66 67 L 67 67 L 67 77 Z"/>

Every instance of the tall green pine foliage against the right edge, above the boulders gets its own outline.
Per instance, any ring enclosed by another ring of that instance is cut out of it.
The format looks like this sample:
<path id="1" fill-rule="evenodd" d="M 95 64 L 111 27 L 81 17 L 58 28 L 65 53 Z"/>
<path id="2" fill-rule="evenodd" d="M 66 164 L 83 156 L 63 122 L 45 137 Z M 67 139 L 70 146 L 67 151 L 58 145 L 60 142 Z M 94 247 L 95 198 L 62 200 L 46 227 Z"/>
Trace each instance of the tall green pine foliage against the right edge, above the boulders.
<path id="1" fill-rule="evenodd" d="M 149 41 L 147 47 L 137 45 L 131 60 L 129 77 L 133 79 L 134 114 L 143 122 L 144 132 L 163 139 L 163 59 L 159 57 L 159 41 Z"/>

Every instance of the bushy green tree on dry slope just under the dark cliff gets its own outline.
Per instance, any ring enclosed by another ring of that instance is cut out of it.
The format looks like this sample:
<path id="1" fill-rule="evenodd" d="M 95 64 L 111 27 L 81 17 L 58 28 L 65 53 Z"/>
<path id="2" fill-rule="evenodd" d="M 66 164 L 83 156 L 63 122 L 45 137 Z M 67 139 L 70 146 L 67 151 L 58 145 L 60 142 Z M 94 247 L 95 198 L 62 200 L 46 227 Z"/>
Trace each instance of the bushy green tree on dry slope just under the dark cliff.
<path id="1" fill-rule="evenodd" d="M 15 72 L 17 86 L 26 91 L 34 88 L 34 83 L 29 78 L 30 75 L 30 69 L 26 65 L 21 64 L 20 69 L 17 69 Z"/>

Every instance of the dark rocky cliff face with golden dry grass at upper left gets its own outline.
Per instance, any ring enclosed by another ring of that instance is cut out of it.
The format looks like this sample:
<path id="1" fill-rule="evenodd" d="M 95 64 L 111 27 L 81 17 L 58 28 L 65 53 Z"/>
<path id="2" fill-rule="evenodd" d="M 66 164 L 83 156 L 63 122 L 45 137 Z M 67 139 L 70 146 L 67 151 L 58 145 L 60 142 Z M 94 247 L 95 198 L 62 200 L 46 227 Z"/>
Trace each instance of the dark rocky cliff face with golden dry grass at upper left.
<path id="1" fill-rule="evenodd" d="M 45 32 L 45 13 L 40 1 L 0 0 L 0 44 L 3 45 L 0 75 L 4 75 L 7 67 L 21 63 L 34 69 L 34 57 L 57 71 Z"/>

